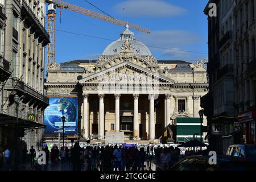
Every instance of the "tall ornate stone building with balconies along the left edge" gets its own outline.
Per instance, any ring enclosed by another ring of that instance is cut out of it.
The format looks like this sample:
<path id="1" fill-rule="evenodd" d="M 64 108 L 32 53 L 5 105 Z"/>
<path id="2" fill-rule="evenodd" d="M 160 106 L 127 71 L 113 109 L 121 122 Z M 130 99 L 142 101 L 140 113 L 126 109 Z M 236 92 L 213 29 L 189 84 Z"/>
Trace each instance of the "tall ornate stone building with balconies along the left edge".
<path id="1" fill-rule="evenodd" d="M 19 147 L 36 150 L 42 145 L 43 110 L 48 106 L 44 96 L 44 47 L 49 35 L 44 28 L 45 2 L 32 0 L 1 1 L 6 16 L 1 29 L 1 56 L 9 63 L 10 76 L 1 82 L 1 147 L 14 149 L 14 128 L 18 95 Z M 4 36 L 2 36 L 4 34 Z M 6 63 L 6 65 L 7 65 Z M 2 74 L 2 72 L 1 72 Z"/>

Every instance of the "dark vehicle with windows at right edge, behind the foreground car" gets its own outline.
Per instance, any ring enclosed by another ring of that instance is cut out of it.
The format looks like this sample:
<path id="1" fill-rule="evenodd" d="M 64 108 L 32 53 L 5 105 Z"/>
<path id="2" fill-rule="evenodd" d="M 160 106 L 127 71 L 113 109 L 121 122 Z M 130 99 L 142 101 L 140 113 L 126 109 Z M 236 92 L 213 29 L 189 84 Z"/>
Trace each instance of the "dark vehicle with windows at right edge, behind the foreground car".
<path id="1" fill-rule="evenodd" d="M 256 146 L 246 144 L 234 144 L 229 146 L 226 155 L 239 156 L 250 160 L 256 160 Z"/>

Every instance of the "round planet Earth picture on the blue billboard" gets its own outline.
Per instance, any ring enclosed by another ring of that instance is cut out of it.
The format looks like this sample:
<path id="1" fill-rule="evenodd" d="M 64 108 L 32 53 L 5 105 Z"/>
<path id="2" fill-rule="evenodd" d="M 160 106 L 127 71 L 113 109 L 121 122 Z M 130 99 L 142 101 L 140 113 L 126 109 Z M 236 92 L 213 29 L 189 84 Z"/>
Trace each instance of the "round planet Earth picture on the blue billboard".
<path id="1" fill-rule="evenodd" d="M 65 122 L 76 122 L 76 107 L 73 103 L 65 98 L 58 98 L 51 101 L 49 108 L 47 107 L 45 118 L 47 126 L 51 126 L 54 129 L 62 129 L 63 126 L 55 126 L 55 122 L 62 122 L 61 117 L 65 117 Z M 50 111 L 51 114 L 48 114 Z M 69 126 L 65 125 L 65 128 Z"/>

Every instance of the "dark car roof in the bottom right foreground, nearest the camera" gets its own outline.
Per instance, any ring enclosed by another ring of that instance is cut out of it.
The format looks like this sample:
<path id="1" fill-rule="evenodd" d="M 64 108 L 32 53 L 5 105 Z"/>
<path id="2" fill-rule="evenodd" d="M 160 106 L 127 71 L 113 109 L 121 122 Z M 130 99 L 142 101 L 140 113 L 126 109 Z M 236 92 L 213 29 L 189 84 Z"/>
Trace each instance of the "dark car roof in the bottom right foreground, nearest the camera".
<path id="1" fill-rule="evenodd" d="M 217 156 L 217 164 L 209 164 L 210 156 L 188 156 L 172 166 L 171 171 L 256 171 L 256 162 L 234 156 Z"/>

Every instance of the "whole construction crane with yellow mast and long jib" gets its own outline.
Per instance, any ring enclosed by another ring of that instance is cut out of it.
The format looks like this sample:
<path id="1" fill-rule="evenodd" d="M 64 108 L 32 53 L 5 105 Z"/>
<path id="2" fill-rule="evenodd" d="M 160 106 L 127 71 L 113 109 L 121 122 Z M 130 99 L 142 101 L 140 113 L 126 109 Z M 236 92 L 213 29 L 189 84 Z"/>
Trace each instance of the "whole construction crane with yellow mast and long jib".
<path id="1" fill-rule="evenodd" d="M 106 22 L 110 22 L 113 24 L 117 24 L 119 26 L 125 27 L 126 24 L 128 24 L 129 28 L 141 32 L 146 32 L 147 34 L 150 34 L 150 30 L 148 28 L 144 28 L 141 26 L 138 26 L 133 23 L 127 23 L 125 21 L 112 18 L 110 16 L 106 16 L 94 11 L 90 11 L 87 9 L 84 9 L 83 7 L 79 7 L 76 5 L 72 5 L 70 3 L 61 1 L 61 0 L 46 0 L 48 5 L 48 34 L 50 36 L 51 43 L 48 44 L 47 47 L 47 69 L 49 69 L 49 65 L 55 61 L 55 19 L 56 19 L 56 8 L 59 7 L 60 9 L 68 9 L 71 11 L 75 11 L 80 14 L 84 14 L 87 16 L 91 16 L 93 18 L 101 19 Z"/>

